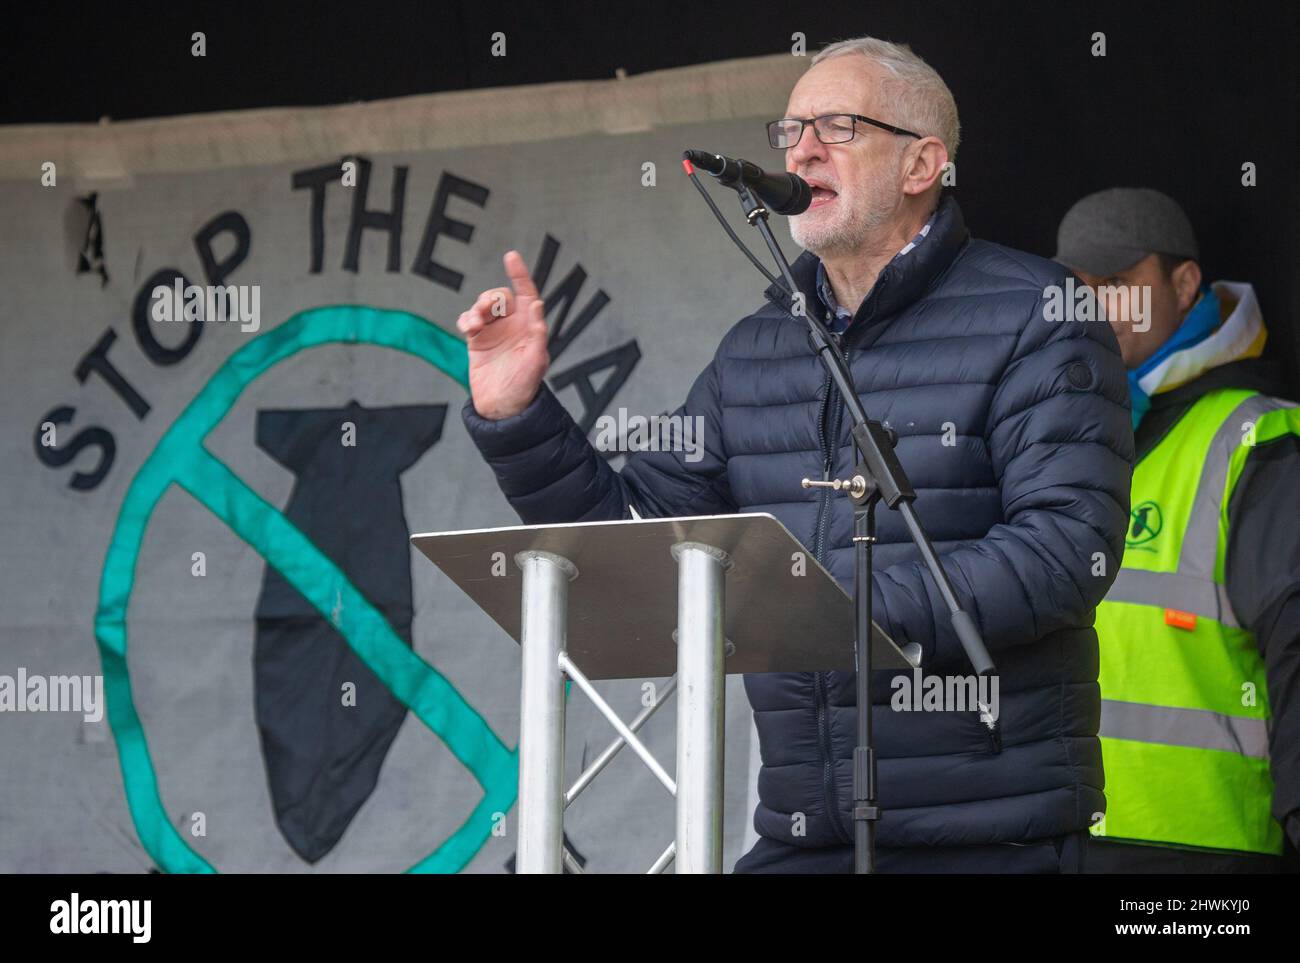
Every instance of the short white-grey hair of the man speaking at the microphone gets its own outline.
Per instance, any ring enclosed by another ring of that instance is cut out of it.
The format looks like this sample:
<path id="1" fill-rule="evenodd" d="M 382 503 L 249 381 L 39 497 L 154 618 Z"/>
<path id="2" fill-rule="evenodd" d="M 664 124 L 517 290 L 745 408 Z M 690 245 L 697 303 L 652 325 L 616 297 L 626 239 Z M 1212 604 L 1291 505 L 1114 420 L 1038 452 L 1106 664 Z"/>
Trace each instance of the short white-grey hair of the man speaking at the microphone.
<path id="1" fill-rule="evenodd" d="M 922 136 L 937 136 L 948 148 L 948 159 L 956 160 L 962 127 L 957 120 L 957 101 L 939 71 L 913 53 L 907 44 L 874 36 L 858 36 L 823 47 L 809 66 L 852 53 L 864 56 L 885 74 L 883 92 L 889 116 L 875 120 L 906 127 Z"/>

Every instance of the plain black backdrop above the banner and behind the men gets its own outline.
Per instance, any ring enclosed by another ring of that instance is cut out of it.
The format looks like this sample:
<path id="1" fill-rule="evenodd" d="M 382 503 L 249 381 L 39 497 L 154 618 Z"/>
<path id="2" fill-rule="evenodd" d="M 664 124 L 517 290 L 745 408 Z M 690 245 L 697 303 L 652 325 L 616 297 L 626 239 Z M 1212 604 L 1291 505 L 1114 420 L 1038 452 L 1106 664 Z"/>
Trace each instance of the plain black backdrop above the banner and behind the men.
<path id="1" fill-rule="evenodd" d="M 204 58 L 190 56 L 198 30 Z M 504 58 L 489 56 L 498 30 Z M 957 196 L 980 237 L 1050 255 L 1080 195 L 1115 185 L 1171 194 L 1192 216 L 1208 276 L 1256 285 L 1270 353 L 1295 389 L 1296 0 L 48 4 L 8 14 L 0 122 L 608 78 L 788 51 L 794 31 L 810 51 L 859 34 L 905 40 L 944 75 L 963 127 Z M 1097 31 L 1105 57 L 1091 53 Z M 1245 162 L 1254 187 L 1242 185 Z"/>

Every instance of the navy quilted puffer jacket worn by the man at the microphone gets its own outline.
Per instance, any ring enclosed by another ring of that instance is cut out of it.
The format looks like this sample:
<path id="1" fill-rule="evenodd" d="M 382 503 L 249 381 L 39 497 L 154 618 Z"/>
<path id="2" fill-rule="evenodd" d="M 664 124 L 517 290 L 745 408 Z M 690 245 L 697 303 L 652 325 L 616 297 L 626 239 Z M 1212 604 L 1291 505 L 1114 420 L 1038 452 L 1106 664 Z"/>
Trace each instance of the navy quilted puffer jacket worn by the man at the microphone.
<path id="1" fill-rule="evenodd" d="M 819 308 L 816 259 L 793 265 Z M 1128 387 L 1105 322 L 1048 321 L 1060 265 L 972 240 L 945 198 L 928 237 L 880 273 L 844 335 L 867 412 L 897 452 L 963 607 L 998 665 L 1001 739 L 974 711 L 897 712 L 875 673 L 880 846 L 1022 842 L 1105 810 L 1093 608 L 1119 565 L 1134 457 Z M 784 286 L 770 302 L 788 302 Z M 703 416 L 705 456 L 637 452 L 621 473 L 543 386 L 528 409 L 465 424 L 525 522 L 771 512 L 853 585 L 852 504 L 800 489 L 848 477 L 838 392 L 806 326 L 777 303 L 723 338 L 679 413 Z M 927 674 L 967 674 L 901 517 L 878 512 L 875 617 L 922 648 Z M 852 845 L 854 680 L 746 676 L 763 768 L 755 828 L 797 846 Z"/>

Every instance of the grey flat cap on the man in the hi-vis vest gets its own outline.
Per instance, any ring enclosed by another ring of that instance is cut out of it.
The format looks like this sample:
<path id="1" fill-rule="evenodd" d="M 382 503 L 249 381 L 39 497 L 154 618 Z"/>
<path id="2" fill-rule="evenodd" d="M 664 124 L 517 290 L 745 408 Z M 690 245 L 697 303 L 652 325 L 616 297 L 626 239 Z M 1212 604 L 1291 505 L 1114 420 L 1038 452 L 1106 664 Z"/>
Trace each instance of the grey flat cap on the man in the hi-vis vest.
<path id="1" fill-rule="evenodd" d="M 1149 187 L 1110 187 L 1078 200 L 1066 212 L 1052 260 L 1108 276 L 1152 253 L 1197 260 L 1192 222 L 1166 194 Z"/>

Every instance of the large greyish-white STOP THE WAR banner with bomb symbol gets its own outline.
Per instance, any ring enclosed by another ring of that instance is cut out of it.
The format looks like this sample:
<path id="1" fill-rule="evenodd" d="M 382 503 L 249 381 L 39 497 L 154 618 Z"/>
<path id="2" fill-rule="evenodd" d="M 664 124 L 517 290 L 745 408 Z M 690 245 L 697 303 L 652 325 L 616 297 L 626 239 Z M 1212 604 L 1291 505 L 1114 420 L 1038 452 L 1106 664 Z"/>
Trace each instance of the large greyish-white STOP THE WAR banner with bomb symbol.
<path id="1" fill-rule="evenodd" d="M 455 318 L 517 248 L 575 417 L 675 408 L 766 286 L 681 149 L 775 166 L 802 66 L 0 130 L 0 871 L 503 871 L 519 650 L 406 543 L 517 521 Z M 750 733 L 732 678 L 728 866 Z M 623 752 L 566 827 L 642 872 L 672 801 Z"/>

